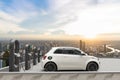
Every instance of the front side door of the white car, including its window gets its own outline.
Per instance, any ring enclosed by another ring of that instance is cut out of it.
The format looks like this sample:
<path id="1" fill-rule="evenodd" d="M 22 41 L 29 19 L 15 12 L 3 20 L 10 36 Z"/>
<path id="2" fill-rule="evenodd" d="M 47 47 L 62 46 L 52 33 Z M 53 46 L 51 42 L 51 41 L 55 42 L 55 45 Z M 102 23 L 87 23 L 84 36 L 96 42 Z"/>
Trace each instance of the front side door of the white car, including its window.
<path id="1" fill-rule="evenodd" d="M 80 53 L 76 53 L 74 49 L 64 49 L 63 54 L 65 69 L 80 69 L 80 65 L 82 62 L 82 56 L 80 55 Z"/>

